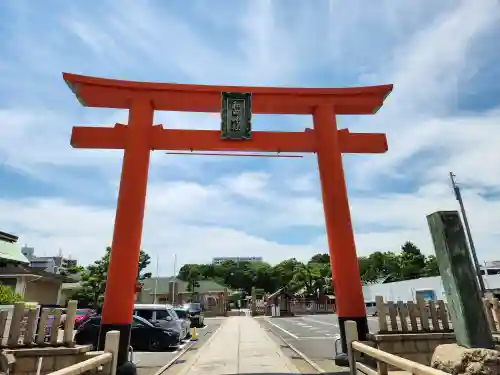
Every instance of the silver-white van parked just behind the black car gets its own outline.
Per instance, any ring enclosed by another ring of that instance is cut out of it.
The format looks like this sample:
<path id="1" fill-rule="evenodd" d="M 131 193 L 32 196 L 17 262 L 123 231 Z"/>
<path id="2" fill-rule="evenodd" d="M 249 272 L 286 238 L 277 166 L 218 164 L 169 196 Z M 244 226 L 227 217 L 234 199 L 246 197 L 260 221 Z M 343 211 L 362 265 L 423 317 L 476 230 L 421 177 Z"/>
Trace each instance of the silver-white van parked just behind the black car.
<path id="1" fill-rule="evenodd" d="M 158 324 L 165 329 L 171 329 L 179 333 L 181 340 L 185 340 L 189 330 L 183 327 L 182 321 L 173 310 L 172 305 L 167 304 L 136 304 L 134 315 L 140 316 L 153 324 Z"/>

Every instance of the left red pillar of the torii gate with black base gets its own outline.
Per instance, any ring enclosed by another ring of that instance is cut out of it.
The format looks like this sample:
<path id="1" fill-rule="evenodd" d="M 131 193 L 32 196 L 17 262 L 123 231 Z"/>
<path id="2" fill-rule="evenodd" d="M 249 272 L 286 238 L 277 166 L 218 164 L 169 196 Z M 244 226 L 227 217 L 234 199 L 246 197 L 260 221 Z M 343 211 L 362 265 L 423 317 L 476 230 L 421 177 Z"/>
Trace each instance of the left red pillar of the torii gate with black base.
<path id="1" fill-rule="evenodd" d="M 113 303 L 108 303 L 102 310 L 100 344 L 104 344 L 106 332 L 120 332 L 119 364 L 127 362 L 128 359 L 130 315 L 135 300 L 135 290 L 132 292 L 132 288 L 137 280 L 151 155 L 149 139 L 154 116 L 152 104 L 148 99 L 135 98 L 130 105 L 127 127 L 129 133 L 123 153 L 113 242 L 104 292 L 104 301 Z M 116 298 L 117 296 L 120 297 Z"/>

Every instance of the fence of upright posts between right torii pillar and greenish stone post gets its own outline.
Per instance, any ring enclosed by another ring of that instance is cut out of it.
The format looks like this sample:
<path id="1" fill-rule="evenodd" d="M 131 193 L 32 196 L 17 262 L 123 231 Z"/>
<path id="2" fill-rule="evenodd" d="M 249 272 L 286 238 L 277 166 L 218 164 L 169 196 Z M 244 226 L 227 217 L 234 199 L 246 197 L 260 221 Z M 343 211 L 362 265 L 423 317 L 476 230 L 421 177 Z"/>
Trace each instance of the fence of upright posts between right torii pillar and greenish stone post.
<path id="1" fill-rule="evenodd" d="M 379 333 L 417 333 L 453 331 L 444 301 L 384 301 L 375 297 Z"/>

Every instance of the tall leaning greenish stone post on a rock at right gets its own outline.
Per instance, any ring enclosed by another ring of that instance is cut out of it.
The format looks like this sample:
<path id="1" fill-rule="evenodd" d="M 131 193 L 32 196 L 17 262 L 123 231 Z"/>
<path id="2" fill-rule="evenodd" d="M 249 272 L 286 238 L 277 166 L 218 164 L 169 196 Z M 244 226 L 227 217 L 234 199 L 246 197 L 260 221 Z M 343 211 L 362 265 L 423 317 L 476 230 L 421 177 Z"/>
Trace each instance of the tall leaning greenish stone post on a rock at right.
<path id="1" fill-rule="evenodd" d="M 427 216 L 427 223 L 457 344 L 466 348 L 492 348 L 492 334 L 458 211 L 435 212 Z"/>

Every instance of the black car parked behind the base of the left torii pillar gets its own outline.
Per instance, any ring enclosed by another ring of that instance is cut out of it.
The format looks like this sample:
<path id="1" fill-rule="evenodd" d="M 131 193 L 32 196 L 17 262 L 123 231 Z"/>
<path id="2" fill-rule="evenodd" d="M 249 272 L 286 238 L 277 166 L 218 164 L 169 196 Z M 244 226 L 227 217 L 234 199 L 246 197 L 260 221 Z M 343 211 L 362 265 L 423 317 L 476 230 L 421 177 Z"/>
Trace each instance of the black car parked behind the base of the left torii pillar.
<path id="1" fill-rule="evenodd" d="M 91 344 L 96 348 L 100 325 L 100 316 L 95 315 L 87 319 L 76 331 L 76 343 L 78 345 Z M 134 350 L 159 351 L 177 346 L 179 342 L 178 332 L 158 327 L 139 316 L 132 318 L 130 346 Z"/>

